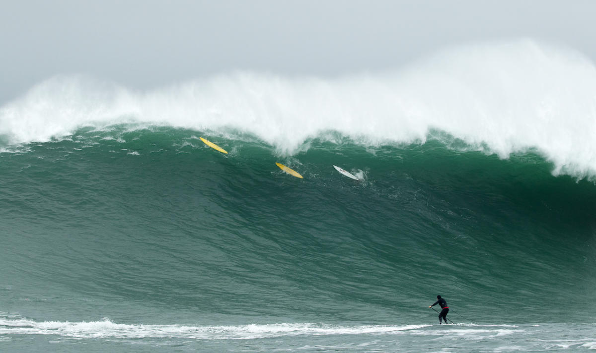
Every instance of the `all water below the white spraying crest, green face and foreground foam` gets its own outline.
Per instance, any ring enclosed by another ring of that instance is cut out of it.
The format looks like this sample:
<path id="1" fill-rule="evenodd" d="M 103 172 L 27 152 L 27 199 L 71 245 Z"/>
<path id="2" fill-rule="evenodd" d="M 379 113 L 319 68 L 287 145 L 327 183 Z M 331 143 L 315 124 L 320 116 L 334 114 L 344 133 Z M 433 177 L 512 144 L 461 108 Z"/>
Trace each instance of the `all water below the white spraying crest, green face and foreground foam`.
<path id="1" fill-rule="evenodd" d="M 5 149 L 0 349 L 596 348 L 594 182 L 464 145 L 337 134 L 284 155 L 123 125 Z"/>

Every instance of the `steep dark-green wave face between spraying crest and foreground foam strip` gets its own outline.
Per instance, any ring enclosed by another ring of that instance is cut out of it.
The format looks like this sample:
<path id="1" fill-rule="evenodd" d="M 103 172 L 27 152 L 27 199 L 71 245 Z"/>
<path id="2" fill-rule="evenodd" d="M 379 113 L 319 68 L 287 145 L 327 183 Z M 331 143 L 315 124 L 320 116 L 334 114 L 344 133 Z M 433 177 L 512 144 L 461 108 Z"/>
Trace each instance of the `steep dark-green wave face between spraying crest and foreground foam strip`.
<path id="1" fill-rule="evenodd" d="M 592 295 L 596 188 L 539 155 L 311 140 L 281 158 L 219 138 L 224 155 L 199 133 L 82 129 L 0 154 L 5 283 L 308 321 L 409 321 L 437 291 L 476 317 L 549 320 Z M 545 296 L 566 300 L 536 311 Z"/>

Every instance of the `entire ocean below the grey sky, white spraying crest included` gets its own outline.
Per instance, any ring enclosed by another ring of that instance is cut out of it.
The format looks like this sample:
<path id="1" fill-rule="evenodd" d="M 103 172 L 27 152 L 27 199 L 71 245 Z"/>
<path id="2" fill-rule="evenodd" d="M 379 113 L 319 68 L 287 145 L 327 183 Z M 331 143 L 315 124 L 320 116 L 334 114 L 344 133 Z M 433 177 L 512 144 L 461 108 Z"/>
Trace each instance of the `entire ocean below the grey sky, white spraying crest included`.
<path id="1" fill-rule="evenodd" d="M 52 77 L 0 106 L 0 351 L 593 351 L 595 180 L 596 68 L 532 40 Z"/>

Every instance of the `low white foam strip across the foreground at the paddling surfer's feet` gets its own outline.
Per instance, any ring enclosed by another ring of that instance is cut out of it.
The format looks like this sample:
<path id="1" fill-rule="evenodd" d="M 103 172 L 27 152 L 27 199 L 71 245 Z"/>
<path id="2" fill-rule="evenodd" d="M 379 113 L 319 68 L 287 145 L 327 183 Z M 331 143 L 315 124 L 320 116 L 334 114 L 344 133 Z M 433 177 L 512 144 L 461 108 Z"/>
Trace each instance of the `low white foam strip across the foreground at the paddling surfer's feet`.
<path id="1" fill-rule="evenodd" d="M 209 326 L 198 324 L 123 324 L 103 321 L 33 321 L 26 318 L 0 317 L 0 340 L 16 335 L 47 335 L 74 339 L 185 339 L 185 340 L 245 340 L 271 338 L 307 338 L 320 336 L 367 336 L 375 342 L 484 342 L 495 352 L 511 350 L 544 351 L 553 348 L 596 347 L 591 324 L 549 324 L 522 327 L 511 325 L 336 325 L 324 323 L 276 323 Z M 563 334 L 561 334 L 563 332 Z M 561 336 L 562 335 L 562 336 Z M 319 341 L 320 342 L 320 341 Z M 418 344 L 416 343 L 416 344 Z M 362 343 L 358 346 L 365 346 Z M 319 347 L 319 346 L 317 346 Z M 465 348 L 464 346 L 461 346 Z M 474 343 L 474 351 L 477 348 Z M 305 346 L 305 349 L 312 346 Z M 462 349 L 469 351 L 469 349 Z"/>

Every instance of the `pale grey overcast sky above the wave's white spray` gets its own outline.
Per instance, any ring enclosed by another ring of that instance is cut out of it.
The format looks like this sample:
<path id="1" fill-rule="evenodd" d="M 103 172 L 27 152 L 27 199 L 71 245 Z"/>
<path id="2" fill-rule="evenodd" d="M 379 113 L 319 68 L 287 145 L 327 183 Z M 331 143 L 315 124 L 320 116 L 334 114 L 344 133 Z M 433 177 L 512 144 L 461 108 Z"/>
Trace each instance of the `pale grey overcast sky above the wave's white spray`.
<path id="1" fill-rule="evenodd" d="M 0 7 L 0 104 L 55 74 L 150 89 L 234 70 L 337 76 L 530 37 L 596 58 L 596 1 L 27 1 Z"/>

